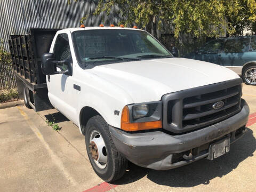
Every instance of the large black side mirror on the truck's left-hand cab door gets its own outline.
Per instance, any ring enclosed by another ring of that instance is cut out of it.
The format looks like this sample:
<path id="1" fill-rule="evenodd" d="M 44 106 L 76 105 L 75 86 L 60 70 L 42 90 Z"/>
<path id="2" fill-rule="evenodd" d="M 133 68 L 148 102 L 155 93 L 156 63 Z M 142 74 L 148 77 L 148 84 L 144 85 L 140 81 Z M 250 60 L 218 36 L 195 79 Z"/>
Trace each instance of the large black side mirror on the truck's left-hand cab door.
<path id="1" fill-rule="evenodd" d="M 68 65 L 68 69 L 64 71 L 57 71 L 57 66 L 63 63 Z M 41 69 L 44 75 L 55 75 L 55 74 L 72 75 L 72 64 L 67 60 L 64 60 L 64 61 L 55 60 L 53 53 L 44 53 L 42 55 Z"/>

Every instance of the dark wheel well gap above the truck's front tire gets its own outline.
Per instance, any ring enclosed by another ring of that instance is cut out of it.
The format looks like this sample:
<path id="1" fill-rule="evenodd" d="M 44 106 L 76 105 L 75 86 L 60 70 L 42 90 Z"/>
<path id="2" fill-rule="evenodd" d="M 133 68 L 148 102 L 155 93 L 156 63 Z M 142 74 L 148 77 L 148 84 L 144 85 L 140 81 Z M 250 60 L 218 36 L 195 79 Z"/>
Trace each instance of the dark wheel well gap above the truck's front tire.
<path id="1" fill-rule="evenodd" d="M 81 112 L 80 112 L 80 116 L 79 116 L 79 120 L 80 120 L 80 126 L 81 126 L 81 131 L 83 133 L 83 135 L 85 135 L 85 127 L 87 122 L 89 121 L 89 119 L 93 116 L 96 115 L 100 115 L 98 113 L 97 110 L 91 108 L 91 107 L 83 107 Z"/>

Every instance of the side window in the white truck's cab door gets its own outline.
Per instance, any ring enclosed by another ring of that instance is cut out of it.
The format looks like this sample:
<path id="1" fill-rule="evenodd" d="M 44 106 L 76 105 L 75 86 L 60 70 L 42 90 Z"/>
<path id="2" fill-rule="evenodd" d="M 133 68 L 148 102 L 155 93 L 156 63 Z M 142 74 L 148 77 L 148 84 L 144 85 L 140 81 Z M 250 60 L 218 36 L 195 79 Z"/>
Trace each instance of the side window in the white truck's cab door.
<path id="1" fill-rule="evenodd" d="M 58 61 L 63 61 L 63 60 L 71 60 L 71 52 L 70 52 L 70 46 L 68 42 L 68 34 L 59 34 L 55 44 L 54 44 L 54 49 L 53 53 L 55 55 L 55 59 Z M 61 64 L 59 65 L 61 67 L 61 70 L 66 70 L 67 65 Z"/>

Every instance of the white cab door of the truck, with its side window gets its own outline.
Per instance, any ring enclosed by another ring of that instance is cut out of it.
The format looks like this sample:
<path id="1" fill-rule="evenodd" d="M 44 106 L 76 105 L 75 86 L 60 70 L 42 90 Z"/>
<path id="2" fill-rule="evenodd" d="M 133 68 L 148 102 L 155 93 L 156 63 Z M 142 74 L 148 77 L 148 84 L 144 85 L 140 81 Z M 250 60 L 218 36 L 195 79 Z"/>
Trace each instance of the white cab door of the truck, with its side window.
<path id="1" fill-rule="evenodd" d="M 66 33 L 58 34 L 53 53 L 55 60 L 63 61 L 67 60 L 73 65 L 73 58 L 70 51 L 69 36 Z M 67 65 L 64 63 L 57 65 L 57 71 L 64 71 L 67 69 Z M 62 114 L 73 120 L 73 116 L 76 112 L 74 99 L 73 99 L 73 86 L 74 78 L 71 75 L 57 74 L 46 77 L 48 95 L 52 105 L 58 109 Z M 73 114 L 73 115 L 72 115 Z M 74 119 L 75 121 L 75 119 Z"/>

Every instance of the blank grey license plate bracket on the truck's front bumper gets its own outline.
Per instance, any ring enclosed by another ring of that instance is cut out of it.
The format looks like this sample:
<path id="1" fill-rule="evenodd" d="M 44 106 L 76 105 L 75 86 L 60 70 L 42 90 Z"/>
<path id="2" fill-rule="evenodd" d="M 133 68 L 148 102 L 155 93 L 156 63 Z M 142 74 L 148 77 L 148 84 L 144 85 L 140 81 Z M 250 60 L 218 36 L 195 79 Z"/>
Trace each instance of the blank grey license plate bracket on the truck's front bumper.
<path id="1" fill-rule="evenodd" d="M 210 145 L 209 147 L 209 155 L 207 159 L 213 160 L 215 158 L 220 157 L 221 155 L 228 153 L 229 145 L 230 145 L 229 138 L 225 138 L 215 143 L 212 143 L 212 145 Z"/>

